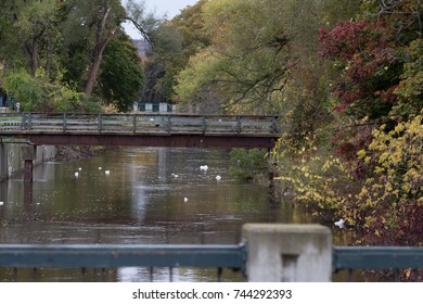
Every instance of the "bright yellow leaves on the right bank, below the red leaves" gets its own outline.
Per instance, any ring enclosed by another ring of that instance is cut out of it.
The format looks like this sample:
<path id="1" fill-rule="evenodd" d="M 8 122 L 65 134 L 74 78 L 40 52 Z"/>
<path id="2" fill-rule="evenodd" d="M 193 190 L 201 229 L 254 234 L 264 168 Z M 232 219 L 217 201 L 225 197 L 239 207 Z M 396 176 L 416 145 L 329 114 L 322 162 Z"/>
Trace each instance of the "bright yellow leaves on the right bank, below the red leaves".
<path id="1" fill-rule="evenodd" d="M 369 174 L 364 179 L 357 179 L 349 164 L 335 153 L 313 149 L 310 141 L 292 150 L 295 162 L 283 173 L 296 190 L 296 200 L 313 204 L 317 214 L 322 210 L 342 214 L 349 225 L 364 226 L 382 238 L 385 229 L 402 229 L 406 211 L 423 206 L 421 117 L 389 131 L 382 128 L 373 132 L 372 142 L 357 153 Z"/>

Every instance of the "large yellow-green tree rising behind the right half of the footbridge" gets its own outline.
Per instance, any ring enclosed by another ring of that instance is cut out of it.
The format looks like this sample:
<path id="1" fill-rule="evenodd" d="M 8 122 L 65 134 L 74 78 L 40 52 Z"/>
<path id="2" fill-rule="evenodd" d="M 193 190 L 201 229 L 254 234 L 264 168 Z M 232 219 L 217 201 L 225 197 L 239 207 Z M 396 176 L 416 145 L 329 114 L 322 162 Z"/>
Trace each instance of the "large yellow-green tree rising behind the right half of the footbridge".
<path id="1" fill-rule="evenodd" d="M 262 112 L 271 110 L 296 63 L 289 55 L 289 37 L 279 23 L 282 12 L 281 2 L 273 0 L 207 2 L 203 17 L 211 46 L 180 74 L 176 91 L 182 101 L 197 101 L 198 92 L 211 88 L 225 99 L 227 109 L 260 104 Z"/>

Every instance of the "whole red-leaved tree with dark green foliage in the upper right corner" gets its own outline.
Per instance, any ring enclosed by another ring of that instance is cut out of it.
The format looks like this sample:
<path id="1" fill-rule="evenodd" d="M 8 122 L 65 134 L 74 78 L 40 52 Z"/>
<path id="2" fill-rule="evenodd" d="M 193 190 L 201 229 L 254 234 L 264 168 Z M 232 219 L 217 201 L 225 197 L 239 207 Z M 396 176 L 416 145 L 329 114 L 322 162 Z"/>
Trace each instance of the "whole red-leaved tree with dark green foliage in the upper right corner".
<path id="1" fill-rule="evenodd" d="M 419 54 L 416 39 L 422 36 L 421 1 L 369 1 L 364 9 L 368 18 L 341 22 L 331 31 L 321 30 L 321 54 L 339 72 L 333 91 L 338 100 L 335 110 L 373 122 L 398 118 L 399 113 L 393 113 L 393 109 L 406 101 L 398 98 L 405 92 L 398 90 L 400 83 L 403 89 L 410 76 L 421 81 L 418 69 L 412 72 Z M 410 113 L 400 113 L 405 119 L 419 114 L 422 107 L 415 100 L 409 104 Z"/>

